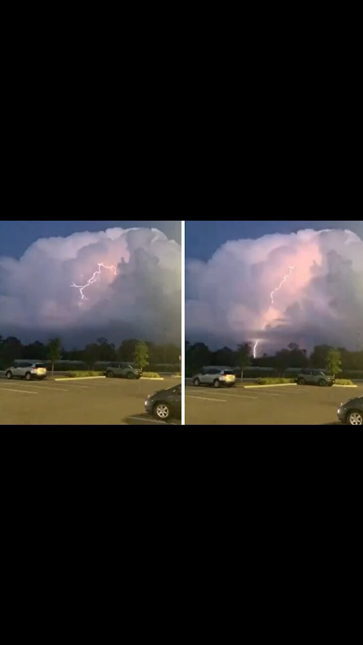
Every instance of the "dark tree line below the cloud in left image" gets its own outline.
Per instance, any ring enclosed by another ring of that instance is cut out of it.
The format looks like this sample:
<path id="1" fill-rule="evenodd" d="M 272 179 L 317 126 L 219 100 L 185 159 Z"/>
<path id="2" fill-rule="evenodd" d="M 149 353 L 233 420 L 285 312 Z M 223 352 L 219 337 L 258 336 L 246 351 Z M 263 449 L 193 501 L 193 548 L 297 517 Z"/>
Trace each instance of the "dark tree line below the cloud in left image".
<path id="1" fill-rule="evenodd" d="M 141 368 L 175 368 L 180 364 L 180 353 L 180 348 L 174 344 L 155 344 L 135 338 L 122 341 L 117 348 L 113 342 L 99 337 L 96 342 L 86 345 L 82 350 L 65 350 L 60 338 L 51 338 L 47 343 L 35 341 L 25 345 L 14 336 L 3 338 L 0 335 L 0 370 L 5 370 L 14 361 L 21 359 L 50 361 L 52 367 L 61 364 L 62 361 L 78 361 L 92 369 L 96 362 L 122 361 L 135 362 Z M 69 368 L 70 366 L 67 366 L 67 369 Z"/>

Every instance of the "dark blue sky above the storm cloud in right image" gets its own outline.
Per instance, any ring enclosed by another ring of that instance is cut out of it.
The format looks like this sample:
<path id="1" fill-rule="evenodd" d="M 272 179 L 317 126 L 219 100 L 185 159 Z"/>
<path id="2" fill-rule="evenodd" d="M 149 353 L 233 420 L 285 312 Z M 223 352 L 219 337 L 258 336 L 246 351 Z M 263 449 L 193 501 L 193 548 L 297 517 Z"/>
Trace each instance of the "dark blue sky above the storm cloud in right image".
<path id="1" fill-rule="evenodd" d="M 362 221 L 351 220 L 298 220 L 298 221 L 269 221 L 269 220 L 216 220 L 185 222 L 185 256 L 207 260 L 222 244 L 228 240 L 256 239 L 268 233 L 294 233 L 302 228 L 349 228 L 363 239 Z"/>

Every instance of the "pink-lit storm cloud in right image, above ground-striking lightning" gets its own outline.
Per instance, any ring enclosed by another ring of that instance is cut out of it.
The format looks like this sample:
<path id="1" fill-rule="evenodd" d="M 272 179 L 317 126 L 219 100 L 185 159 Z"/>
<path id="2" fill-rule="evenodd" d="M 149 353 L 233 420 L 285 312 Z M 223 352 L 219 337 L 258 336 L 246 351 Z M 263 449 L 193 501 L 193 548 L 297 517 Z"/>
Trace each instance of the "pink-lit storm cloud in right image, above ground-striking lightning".
<path id="1" fill-rule="evenodd" d="M 301 230 L 229 241 L 186 266 L 189 341 L 363 346 L 363 241 L 347 230 Z M 273 294 L 271 296 L 271 294 Z"/>

